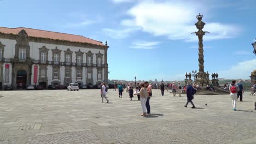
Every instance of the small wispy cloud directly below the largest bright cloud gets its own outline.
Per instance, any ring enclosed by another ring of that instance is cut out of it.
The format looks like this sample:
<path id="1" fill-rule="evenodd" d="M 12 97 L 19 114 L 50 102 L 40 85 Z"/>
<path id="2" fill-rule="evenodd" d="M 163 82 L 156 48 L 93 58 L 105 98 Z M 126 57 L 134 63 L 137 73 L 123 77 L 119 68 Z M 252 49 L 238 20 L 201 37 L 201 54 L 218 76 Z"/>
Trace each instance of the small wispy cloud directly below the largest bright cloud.
<path id="1" fill-rule="evenodd" d="M 155 49 L 159 41 L 136 41 L 130 46 L 132 49 Z"/>

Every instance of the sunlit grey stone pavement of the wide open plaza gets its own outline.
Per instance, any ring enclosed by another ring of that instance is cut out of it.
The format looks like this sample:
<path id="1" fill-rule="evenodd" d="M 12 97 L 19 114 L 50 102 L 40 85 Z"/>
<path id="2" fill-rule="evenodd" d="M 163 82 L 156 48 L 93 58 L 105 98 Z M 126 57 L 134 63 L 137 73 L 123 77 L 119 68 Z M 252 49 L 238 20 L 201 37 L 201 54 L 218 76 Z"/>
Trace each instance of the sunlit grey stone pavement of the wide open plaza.
<path id="1" fill-rule="evenodd" d="M 256 143 L 256 97 L 244 94 L 232 111 L 230 95 L 195 95 L 187 100 L 153 89 L 151 115 L 140 102 L 108 90 L 1 91 L 0 144 L 5 143 Z M 205 105 L 207 104 L 207 105 Z"/>

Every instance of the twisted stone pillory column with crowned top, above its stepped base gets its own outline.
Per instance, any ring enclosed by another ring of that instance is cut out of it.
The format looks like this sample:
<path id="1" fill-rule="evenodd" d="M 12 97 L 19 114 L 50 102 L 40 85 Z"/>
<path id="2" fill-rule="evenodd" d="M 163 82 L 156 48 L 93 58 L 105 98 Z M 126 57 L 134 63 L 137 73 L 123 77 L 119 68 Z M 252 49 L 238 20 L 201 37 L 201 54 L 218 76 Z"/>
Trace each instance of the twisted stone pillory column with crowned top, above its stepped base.
<path id="1" fill-rule="evenodd" d="M 199 47 L 198 47 L 198 55 L 199 55 L 199 58 L 198 58 L 198 61 L 199 61 L 199 73 L 198 73 L 198 78 L 199 80 L 206 80 L 206 73 L 205 73 L 205 66 L 203 65 L 203 63 L 205 63 L 205 61 L 203 60 L 203 44 L 202 44 L 202 41 L 203 41 L 203 35 L 205 35 L 205 33 L 209 33 L 209 32 L 205 32 L 205 31 L 202 31 L 203 29 L 203 26 L 205 26 L 205 23 L 202 22 L 202 17 L 203 15 L 197 15 L 196 18 L 197 18 L 197 22 L 195 23 L 195 26 L 196 28 L 198 29 L 197 32 L 193 32 L 197 35 L 198 37 L 198 44 L 199 44 Z"/>

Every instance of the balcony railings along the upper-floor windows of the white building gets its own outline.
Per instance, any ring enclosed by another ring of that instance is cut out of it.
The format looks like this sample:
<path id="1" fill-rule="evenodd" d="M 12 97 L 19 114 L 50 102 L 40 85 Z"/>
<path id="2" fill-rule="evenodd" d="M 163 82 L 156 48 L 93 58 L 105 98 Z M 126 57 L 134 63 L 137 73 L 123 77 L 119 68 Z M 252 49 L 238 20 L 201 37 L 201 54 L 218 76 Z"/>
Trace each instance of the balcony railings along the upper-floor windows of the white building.
<path id="1" fill-rule="evenodd" d="M 13 62 L 13 58 L 4 58 L 3 62 Z M 19 62 L 26 62 L 26 60 L 19 60 Z M 48 65 L 66 65 L 74 67 L 97 67 L 104 68 L 104 64 L 95 64 L 95 63 L 71 63 L 71 62 L 53 62 L 53 61 L 31 61 L 33 64 L 48 64 Z"/>

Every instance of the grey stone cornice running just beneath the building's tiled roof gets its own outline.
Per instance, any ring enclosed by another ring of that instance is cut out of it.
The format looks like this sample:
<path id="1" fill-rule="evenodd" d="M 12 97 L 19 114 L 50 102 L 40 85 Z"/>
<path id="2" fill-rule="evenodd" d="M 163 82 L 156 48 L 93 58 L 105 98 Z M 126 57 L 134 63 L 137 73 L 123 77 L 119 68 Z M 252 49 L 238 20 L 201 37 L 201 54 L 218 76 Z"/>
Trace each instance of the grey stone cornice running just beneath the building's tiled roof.
<path id="1" fill-rule="evenodd" d="M 16 35 L 16 34 L 6 34 L 6 33 L 1 33 L 0 32 L 0 38 L 17 40 L 18 35 Z M 79 42 L 59 40 L 59 39 L 38 38 L 38 37 L 30 37 L 30 36 L 28 36 L 27 38 L 28 38 L 29 42 L 34 42 L 34 43 L 76 46 L 76 47 L 83 47 L 83 48 L 90 48 L 90 49 L 100 49 L 100 50 L 105 50 L 105 49 L 109 48 L 109 46 L 105 46 L 105 45 L 101 46 L 101 45 L 95 45 L 95 44 L 90 44 L 90 43 L 79 43 Z"/>

